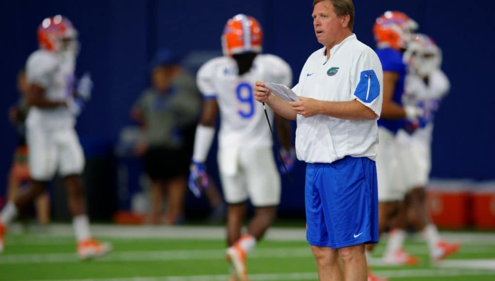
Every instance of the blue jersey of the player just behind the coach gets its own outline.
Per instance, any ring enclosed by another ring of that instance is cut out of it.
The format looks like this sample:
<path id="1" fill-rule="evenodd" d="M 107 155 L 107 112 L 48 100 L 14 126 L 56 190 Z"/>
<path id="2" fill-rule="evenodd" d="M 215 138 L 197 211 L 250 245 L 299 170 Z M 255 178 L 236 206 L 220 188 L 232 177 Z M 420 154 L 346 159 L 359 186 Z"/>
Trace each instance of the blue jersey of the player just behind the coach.
<path id="1" fill-rule="evenodd" d="M 375 51 L 382 63 L 383 72 L 396 72 L 399 74 L 392 100 L 395 103 L 402 105 L 404 79 L 407 72 L 407 65 L 402 61 L 402 53 L 393 48 L 380 48 Z M 384 127 L 394 134 L 397 133 L 403 125 L 404 120 L 387 120 L 384 118 L 378 120 L 378 126 Z"/>

